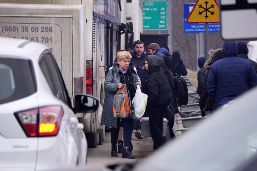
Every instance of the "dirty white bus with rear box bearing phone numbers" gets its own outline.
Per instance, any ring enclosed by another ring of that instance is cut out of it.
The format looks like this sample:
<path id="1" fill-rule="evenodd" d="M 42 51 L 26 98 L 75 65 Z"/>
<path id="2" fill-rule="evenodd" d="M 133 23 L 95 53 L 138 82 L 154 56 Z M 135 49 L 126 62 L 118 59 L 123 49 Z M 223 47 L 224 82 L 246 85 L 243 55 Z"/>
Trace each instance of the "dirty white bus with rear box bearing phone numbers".
<path id="1" fill-rule="evenodd" d="M 100 99 L 96 112 L 80 113 L 77 118 L 84 124 L 88 147 L 101 145 L 105 139 L 105 126 L 100 125 L 105 76 L 117 51 L 126 49 L 128 43 L 125 42 L 133 44 L 133 38 L 131 41 L 128 39 L 128 26 L 121 22 L 125 22 L 126 2 L 8 2 L 0 1 L 0 36 L 27 39 L 48 46 L 61 69 L 72 102 L 76 93 L 92 94 Z"/>

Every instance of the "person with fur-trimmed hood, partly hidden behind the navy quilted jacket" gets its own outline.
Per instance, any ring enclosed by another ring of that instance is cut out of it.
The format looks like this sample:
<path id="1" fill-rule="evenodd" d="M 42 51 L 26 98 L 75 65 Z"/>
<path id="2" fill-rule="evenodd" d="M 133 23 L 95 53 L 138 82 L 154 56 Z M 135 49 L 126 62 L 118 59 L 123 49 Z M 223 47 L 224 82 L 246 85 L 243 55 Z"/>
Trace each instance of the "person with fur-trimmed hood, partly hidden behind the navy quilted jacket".
<path id="1" fill-rule="evenodd" d="M 203 90 L 202 90 L 202 94 L 199 100 L 199 106 L 201 109 L 201 116 L 205 117 L 205 101 L 206 99 L 209 97 L 208 91 L 207 91 L 207 78 L 211 69 L 211 64 L 213 64 L 214 62 L 216 62 L 217 60 L 220 60 L 224 58 L 223 55 L 223 51 L 222 49 L 216 49 L 214 50 L 213 53 L 211 53 L 211 55 L 209 56 L 208 60 L 205 62 L 204 64 L 204 68 L 207 70 L 206 76 L 205 76 L 205 82 L 204 82 L 204 86 L 203 86 Z M 214 110 L 217 109 L 217 104 L 211 100 L 211 110 L 210 112 L 212 113 Z"/>

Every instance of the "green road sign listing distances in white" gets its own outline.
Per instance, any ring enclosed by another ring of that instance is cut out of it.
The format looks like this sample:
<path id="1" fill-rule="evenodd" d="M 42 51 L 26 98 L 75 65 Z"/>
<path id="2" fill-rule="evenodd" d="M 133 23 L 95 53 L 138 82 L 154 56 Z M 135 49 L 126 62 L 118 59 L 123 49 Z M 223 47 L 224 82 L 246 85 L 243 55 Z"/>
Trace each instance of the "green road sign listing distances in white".
<path id="1" fill-rule="evenodd" d="M 143 1 L 143 29 L 167 30 L 167 1 Z"/>

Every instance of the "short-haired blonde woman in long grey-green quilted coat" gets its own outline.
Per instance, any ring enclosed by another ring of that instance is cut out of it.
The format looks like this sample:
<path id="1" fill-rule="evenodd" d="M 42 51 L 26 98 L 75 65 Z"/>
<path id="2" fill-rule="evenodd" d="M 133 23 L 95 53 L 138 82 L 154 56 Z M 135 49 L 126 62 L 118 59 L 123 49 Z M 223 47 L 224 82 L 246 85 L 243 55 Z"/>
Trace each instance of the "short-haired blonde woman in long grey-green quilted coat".
<path id="1" fill-rule="evenodd" d="M 127 51 L 121 51 L 117 53 L 117 63 L 114 64 L 112 71 L 109 71 L 104 82 L 106 95 L 103 104 L 103 114 L 101 124 L 112 127 L 111 128 L 111 145 L 112 157 L 118 157 L 117 154 L 117 140 L 119 135 L 119 129 L 122 124 L 123 126 L 123 140 L 124 149 L 122 151 L 122 158 L 135 158 L 130 150 L 132 130 L 133 130 L 133 119 L 126 118 L 120 119 L 115 118 L 113 115 L 113 98 L 123 84 L 128 86 L 129 97 L 132 100 L 135 96 L 137 85 L 141 86 L 138 81 L 138 75 L 133 69 L 130 59 L 131 54 Z"/>

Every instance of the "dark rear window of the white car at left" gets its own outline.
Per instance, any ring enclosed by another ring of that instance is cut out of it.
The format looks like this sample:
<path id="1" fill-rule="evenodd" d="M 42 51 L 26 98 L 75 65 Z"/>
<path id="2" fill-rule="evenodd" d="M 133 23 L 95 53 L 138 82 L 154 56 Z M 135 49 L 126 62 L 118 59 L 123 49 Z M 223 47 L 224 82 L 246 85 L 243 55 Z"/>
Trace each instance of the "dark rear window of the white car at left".
<path id="1" fill-rule="evenodd" d="M 35 82 L 30 60 L 0 57 L 0 104 L 35 93 Z"/>

